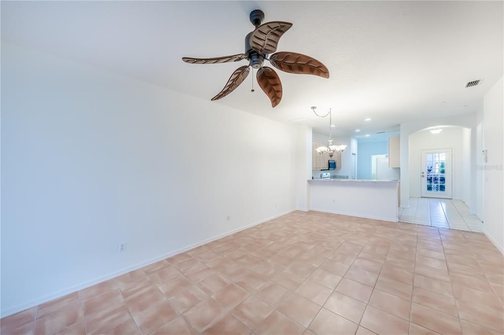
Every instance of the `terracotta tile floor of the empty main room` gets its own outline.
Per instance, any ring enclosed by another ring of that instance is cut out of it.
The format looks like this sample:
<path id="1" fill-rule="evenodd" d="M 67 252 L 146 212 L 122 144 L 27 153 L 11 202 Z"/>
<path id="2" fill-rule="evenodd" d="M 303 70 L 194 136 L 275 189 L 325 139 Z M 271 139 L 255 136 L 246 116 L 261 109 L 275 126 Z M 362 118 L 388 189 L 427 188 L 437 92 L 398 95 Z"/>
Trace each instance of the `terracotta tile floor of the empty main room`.
<path id="1" fill-rule="evenodd" d="M 481 233 L 293 212 L 1 320 L 2 334 L 498 334 Z"/>

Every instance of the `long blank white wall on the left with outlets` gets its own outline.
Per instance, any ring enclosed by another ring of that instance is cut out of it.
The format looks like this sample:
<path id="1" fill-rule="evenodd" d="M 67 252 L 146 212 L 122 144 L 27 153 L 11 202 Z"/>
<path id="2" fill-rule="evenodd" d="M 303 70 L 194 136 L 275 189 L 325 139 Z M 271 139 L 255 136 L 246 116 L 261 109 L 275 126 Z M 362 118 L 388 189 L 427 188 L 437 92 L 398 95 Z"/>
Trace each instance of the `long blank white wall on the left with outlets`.
<path id="1" fill-rule="evenodd" d="M 2 314 L 295 209 L 298 135 L 3 43 Z"/>

